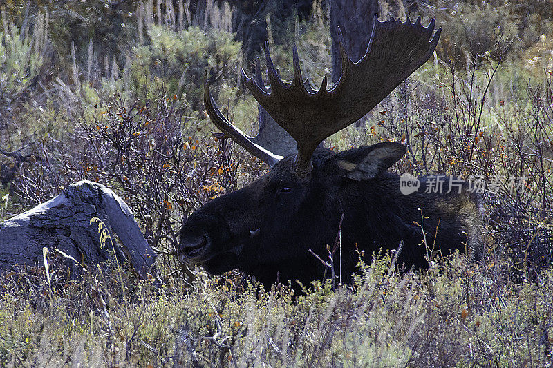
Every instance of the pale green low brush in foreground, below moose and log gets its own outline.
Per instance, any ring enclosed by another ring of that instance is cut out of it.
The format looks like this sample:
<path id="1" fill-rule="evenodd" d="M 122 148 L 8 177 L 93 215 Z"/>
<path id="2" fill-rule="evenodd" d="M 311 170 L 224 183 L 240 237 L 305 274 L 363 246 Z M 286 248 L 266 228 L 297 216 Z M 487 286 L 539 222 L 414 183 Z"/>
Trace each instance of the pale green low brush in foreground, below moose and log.
<path id="1" fill-rule="evenodd" d="M 52 264 L 55 264 L 53 260 Z M 547 367 L 553 275 L 513 282 L 507 260 L 459 255 L 399 273 L 377 258 L 353 285 L 258 289 L 235 273 L 159 289 L 117 267 L 48 285 L 1 281 L 0 364 L 10 366 Z"/>

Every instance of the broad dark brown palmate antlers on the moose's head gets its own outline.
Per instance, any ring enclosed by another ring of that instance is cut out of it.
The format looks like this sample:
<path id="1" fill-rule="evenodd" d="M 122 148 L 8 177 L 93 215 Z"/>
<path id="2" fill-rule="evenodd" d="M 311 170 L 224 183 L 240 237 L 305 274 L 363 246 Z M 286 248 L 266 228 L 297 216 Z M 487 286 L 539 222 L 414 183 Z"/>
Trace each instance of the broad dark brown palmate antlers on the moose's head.
<path id="1" fill-rule="evenodd" d="M 265 43 L 270 87 L 263 84 L 261 73 L 256 72 L 255 80 L 242 70 L 243 79 L 261 107 L 297 142 L 298 175 L 310 173 L 311 156 L 320 142 L 366 115 L 431 57 L 442 31 L 438 29 L 431 38 L 434 26 L 433 19 L 424 28 L 420 17 L 415 23 L 409 18 L 402 23 L 394 19 L 380 22 L 375 15 L 366 53 L 356 63 L 348 57 L 339 31 L 341 76 L 329 90 L 326 77 L 317 91 L 310 88 L 308 81 L 303 81 L 295 46 L 292 52 L 294 78 L 290 84 L 283 82 L 272 63 L 268 43 Z M 252 138 L 223 117 L 207 84 L 204 102 L 209 117 L 223 133 L 271 166 L 277 162 L 275 160 L 280 157 L 254 144 Z"/>

